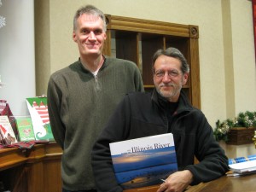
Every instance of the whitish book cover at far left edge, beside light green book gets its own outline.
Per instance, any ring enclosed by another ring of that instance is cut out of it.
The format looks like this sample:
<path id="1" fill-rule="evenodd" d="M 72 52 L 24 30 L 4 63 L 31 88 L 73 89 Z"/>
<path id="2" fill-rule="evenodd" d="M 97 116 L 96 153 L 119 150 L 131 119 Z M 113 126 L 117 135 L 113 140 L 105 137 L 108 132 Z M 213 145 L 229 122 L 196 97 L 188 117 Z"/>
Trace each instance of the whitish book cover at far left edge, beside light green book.
<path id="1" fill-rule="evenodd" d="M 0 134 L 1 134 L 1 143 L 4 145 L 9 145 L 12 143 L 17 143 L 15 137 L 15 132 L 9 122 L 8 116 L 0 116 Z"/>

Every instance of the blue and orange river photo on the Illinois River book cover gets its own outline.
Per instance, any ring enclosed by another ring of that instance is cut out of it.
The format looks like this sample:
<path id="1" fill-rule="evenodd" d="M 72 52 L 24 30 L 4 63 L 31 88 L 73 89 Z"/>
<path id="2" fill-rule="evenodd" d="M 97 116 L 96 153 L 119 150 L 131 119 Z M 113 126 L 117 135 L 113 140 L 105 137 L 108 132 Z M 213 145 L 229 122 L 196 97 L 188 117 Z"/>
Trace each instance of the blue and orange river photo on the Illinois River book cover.
<path id="1" fill-rule="evenodd" d="M 112 155 L 113 170 L 124 189 L 162 183 L 172 172 L 177 172 L 175 147 L 155 148 L 136 153 Z"/>

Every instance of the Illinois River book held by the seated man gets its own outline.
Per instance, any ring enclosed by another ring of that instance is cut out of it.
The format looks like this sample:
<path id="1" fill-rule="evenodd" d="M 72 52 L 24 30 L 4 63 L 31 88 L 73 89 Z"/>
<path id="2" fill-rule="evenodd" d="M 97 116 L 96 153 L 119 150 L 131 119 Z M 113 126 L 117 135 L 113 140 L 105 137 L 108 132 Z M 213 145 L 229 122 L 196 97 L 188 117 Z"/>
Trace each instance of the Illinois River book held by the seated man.
<path id="1" fill-rule="evenodd" d="M 162 183 L 177 172 L 172 133 L 110 143 L 113 170 L 123 189 Z"/>

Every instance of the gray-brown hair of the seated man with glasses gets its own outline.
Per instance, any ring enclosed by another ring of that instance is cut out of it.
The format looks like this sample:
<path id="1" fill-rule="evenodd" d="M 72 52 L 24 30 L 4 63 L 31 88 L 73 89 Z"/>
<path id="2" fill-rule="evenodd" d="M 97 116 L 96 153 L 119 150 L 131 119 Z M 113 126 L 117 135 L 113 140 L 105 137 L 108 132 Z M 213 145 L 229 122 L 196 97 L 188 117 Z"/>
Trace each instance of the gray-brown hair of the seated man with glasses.
<path id="1" fill-rule="evenodd" d="M 154 62 L 157 60 L 158 57 L 160 57 L 160 55 L 166 55 L 166 56 L 170 56 L 170 57 L 178 59 L 182 63 L 181 71 L 183 73 L 189 73 L 189 64 L 188 64 L 186 58 L 178 49 L 173 48 L 173 47 L 170 47 L 168 49 L 158 49 L 154 53 L 154 56 L 152 59 L 153 73 L 154 73 Z"/>

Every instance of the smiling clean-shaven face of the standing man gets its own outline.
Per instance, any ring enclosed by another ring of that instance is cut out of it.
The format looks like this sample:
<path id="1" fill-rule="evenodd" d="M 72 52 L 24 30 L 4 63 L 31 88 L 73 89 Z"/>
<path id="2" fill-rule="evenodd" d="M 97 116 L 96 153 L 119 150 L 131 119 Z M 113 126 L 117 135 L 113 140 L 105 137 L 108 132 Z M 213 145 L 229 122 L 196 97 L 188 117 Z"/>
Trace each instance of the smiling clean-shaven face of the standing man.
<path id="1" fill-rule="evenodd" d="M 106 38 L 102 18 L 87 14 L 79 16 L 73 41 L 78 44 L 81 57 L 101 55 Z"/>

